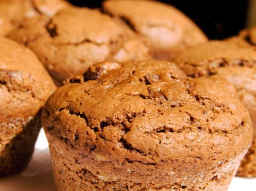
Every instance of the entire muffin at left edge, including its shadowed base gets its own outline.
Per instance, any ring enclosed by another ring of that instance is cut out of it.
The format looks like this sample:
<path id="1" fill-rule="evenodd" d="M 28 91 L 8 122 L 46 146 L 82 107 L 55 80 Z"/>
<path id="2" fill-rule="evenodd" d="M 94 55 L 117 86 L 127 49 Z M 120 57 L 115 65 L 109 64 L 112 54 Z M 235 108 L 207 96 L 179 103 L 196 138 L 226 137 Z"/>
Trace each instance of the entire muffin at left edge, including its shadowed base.
<path id="1" fill-rule="evenodd" d="M 23 170 L 41 126 L 41 109 L 55 85 L 25 47 L 0 38 L 0 177 Z"/>

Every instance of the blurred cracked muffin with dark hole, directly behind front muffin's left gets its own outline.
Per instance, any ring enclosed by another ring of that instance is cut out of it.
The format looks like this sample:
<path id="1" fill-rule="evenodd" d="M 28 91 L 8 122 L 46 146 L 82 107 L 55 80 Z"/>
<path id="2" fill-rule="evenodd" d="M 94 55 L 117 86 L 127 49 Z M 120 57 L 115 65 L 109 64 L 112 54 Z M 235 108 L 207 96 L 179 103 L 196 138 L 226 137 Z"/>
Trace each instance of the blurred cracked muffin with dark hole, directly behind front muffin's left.
<path id="1" fill-rule="evenodd" d="M 56 83 L 96 62 L 151 58 L 145 39 L 98 10 L 70 7 L 27 21 L 9 37 L 30 47 Z"/>

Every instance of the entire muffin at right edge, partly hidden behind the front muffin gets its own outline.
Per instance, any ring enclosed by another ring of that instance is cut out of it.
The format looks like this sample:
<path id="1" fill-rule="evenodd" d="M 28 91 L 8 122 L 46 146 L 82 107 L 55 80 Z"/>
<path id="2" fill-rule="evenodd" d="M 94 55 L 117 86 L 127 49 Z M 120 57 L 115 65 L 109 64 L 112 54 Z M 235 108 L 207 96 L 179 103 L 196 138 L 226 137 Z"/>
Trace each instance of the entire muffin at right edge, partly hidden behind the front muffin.
<path id="1" fill-rule="evenodd" d="M 241 38 L 209 41 L 179 53 L 173 61 L 192 77 L 219 75 L 233 83 L 248 109 L 254 126 L 251 148 L 237 176 L 256 177 L 256 50 Z"/>

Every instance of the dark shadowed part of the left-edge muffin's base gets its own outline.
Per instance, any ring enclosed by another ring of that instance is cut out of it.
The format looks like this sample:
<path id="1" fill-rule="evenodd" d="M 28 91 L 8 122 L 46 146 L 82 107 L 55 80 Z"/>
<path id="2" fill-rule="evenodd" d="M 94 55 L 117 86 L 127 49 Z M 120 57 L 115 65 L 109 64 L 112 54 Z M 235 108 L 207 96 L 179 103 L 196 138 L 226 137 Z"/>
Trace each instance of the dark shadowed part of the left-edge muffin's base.
<path id="1" fill-rule="evenodd" d="M 32 157 L 39 130 L 41 129 L 41 110 L 32 120 L 14 121 L 21 125 L 21 131 L 14 136 L 0 152 L 0 177 L 21 172 Z"/>

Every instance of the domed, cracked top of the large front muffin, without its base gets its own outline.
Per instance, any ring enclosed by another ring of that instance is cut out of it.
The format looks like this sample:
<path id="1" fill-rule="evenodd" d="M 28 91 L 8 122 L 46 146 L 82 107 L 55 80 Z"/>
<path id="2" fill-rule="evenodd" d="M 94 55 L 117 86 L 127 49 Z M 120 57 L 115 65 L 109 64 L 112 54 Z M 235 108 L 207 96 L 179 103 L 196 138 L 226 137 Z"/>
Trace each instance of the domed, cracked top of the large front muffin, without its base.
<path id="1" fill-rule="evenodd" d="M 251 120 L 235 94 L 224 79 L 191 79 L 170 62 L 105 62 L 67 79 L 42 122 L 47 133 L 106 161 L 184 166 L 198 157 L 204 170 L 244 154 L 251 141 Z"/>

